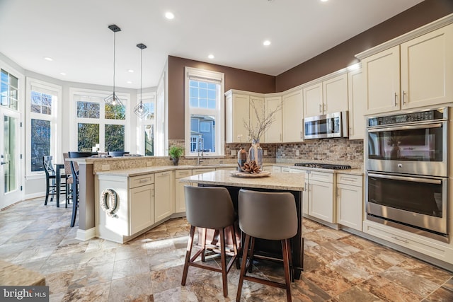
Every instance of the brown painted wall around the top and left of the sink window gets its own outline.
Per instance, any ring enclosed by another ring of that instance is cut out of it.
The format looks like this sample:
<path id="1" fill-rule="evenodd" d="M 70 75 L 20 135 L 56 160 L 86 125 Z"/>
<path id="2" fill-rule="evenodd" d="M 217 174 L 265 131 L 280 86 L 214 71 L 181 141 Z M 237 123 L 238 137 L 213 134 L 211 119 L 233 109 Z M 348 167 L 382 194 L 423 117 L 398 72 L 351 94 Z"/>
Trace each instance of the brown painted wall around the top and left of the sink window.
<path id="1" fill-rule="evenodd" d="M 168 139 L 184 139 L 184 68 L 185 66 L 223 72 L 225 92 L 230 89 L 273 93 L 275 76 L 205 62 L 168 57 Z"/>

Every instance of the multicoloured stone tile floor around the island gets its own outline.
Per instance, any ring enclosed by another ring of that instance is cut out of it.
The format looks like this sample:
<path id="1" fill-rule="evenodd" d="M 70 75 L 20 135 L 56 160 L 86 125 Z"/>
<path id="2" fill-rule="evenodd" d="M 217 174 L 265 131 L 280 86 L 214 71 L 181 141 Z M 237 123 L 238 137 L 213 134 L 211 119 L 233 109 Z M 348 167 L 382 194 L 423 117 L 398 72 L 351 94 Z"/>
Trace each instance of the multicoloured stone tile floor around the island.
<path id="1" fill-rule="evenodd" d="M 234 301 L 239 271 L 229 273 L 229 298 L 217 272 L 189 268 L 180 286 L 189 226 L 171 219 L 121 245 L 74 239 L 71 209 L 42 199 L 0 211 L 0 259 L 45 274 L 50 301 Z M 344 231 L 304 220 L 305 271 L 293 301 L 453 301 L 453 274 Z M 217 259 L 210 260 L 218 265 Z M 270 265 L 270 267 L 269 267 Z M 279 278 L 279 265 L 254 273 Z M 242 301 L 286 301 L 285 291 L 244 281 Z"/>

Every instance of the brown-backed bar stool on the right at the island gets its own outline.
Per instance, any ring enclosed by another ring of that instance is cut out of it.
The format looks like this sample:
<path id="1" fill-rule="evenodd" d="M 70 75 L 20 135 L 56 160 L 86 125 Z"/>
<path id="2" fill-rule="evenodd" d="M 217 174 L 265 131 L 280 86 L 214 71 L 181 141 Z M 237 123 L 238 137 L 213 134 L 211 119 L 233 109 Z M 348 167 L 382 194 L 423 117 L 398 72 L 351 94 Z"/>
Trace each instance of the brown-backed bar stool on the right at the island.
<path id="1" fill-rule="evenodd" d="M 291 299 L 292 265 L 290 238 L 297 234 L 297 209 L 294 196 L 288 192 L 257 192 L 250 190 L 239 191 L 239 228 L 246 234 L 241 263 L 236 301 L 241 301 L 243 280 L 258 282 L 286 289 L 287 301 Z M 248 269 L 253 263 L 253 248 L 255 238 L 281 240 L 285 284 L 247 276 Z M 251 247 L 248 250 L 248 247 Z M 249 257 L 249 259 L 247 259 Z M 247 263 L 247 260 L 248 263 Z"/>

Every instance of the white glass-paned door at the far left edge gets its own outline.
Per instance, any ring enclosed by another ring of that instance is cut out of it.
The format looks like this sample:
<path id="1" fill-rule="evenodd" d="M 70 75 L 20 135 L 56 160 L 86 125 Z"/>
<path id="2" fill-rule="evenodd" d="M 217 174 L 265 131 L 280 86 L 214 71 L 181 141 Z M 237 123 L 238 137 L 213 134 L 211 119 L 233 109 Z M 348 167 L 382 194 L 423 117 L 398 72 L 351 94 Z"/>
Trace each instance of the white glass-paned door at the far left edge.
<path id="1" fill-rule="evenodd" d="M 21 200 L 21 129 L 19 112 L 0 106 L 0 209 Z"/>

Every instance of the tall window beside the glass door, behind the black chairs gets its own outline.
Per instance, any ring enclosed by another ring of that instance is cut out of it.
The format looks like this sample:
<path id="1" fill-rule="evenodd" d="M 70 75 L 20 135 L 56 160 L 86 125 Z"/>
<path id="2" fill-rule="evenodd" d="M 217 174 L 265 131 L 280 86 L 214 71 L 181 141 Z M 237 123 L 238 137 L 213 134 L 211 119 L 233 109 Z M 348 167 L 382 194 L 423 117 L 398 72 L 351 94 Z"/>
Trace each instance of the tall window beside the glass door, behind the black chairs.
<path id="1" fill-rule="evenodd" d="M 57 112 L 61 100 L 62 87 L 44 81 L 27 79 L 27 111 L 30 112 L 27 136 L 27 173 L 42 173 L 42 156 L 60 155 L 61 136 L 57 135 Z"/>

